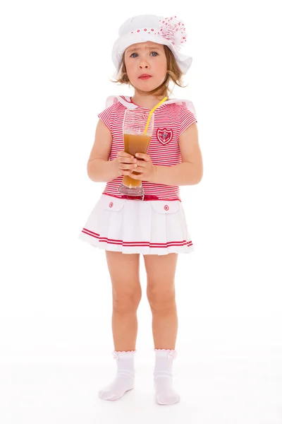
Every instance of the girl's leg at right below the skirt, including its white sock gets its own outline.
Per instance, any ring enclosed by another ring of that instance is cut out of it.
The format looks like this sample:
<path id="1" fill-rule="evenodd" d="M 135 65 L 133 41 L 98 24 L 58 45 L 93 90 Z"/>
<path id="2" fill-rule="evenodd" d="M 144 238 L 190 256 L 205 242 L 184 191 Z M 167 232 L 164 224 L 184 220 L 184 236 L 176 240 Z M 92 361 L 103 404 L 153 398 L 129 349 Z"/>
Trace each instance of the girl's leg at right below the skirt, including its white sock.
<path id="1" fill-rule="evenodd" d="M 178 255 L 147 255 L 144 259 L 147 271 L 147 298 L 152 310 L 156 401 L 157 404 L 172 405 L 180 401 L 179 394 L 173 389 L 172 378 L 178 330 L 174 285 Z"/>

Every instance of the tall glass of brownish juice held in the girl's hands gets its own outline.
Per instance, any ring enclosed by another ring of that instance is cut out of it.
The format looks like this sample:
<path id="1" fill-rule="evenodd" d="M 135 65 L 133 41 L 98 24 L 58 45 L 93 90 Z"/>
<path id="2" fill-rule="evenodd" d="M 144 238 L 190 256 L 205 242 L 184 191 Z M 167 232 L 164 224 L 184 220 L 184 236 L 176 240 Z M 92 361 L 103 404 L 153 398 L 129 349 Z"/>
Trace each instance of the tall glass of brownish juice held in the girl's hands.
<path id="1" fill-rule="evenodd" d="M 124 151 L 135 156 L 136 153 L 147 153 L 149 142 L 151 141 L 154 130 L 154 113 L 149 120 L 149 126 L 144 135 L 145 126 L 149 118 L 148 109 L 136 108 L 133 110 L 127 109 L 123 121 L 123 142 Z M 142 160 L 137 158 L 137 160 Z M 139 172 L 133 171 L 134 175 Z M 142 196 L 144 189 L 141 179 L 130 178 L 129 175 L 123 176 L 123 181 L 118 187 L 118 192 L 127 196 Z"/>

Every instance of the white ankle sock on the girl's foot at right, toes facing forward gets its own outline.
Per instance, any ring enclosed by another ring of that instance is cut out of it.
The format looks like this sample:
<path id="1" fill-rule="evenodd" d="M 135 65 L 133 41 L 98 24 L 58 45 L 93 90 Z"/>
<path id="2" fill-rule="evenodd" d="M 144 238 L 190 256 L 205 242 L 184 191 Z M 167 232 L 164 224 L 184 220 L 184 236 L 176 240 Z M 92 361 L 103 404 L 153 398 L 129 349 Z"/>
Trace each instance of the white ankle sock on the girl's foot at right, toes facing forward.
<path id="1" fill-rule="evenodd" d="M 171 349 L 154 349 L 154 389 L 159 405 L 173 405 L 180 401 L 179 394 L 173 390 L 172 365 L 176 351 Z"/>

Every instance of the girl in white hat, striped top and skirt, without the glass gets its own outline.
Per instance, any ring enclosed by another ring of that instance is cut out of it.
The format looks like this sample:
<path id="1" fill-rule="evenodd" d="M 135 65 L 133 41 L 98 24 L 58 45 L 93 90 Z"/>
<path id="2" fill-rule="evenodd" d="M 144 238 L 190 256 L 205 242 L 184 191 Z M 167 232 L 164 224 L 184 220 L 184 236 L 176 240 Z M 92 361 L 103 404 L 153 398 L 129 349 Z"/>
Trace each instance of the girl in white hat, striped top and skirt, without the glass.
<path id="1" fill-rule="evenodd" d="M 80 240 L 105 250 L 111 277 L 117 373 L 111 384 L 99 390 L 106 400 L 120 399 L 134 386 L 140 254 L 152 310 L 155 399 L 165 405 L 180 400 L 172 381 L 178 329 L 174 276 L 178 253 L 190 253 L 193 246 L 179 186 L 199 183 L 203 172 L 192 102 L 168 98 L 169 82 L 181 86 L 181 77 L 192 64 L 191 57 L 179 53 L 185 41 L 185 25 L 176 16 L 142 15 L 123 23 L 112 52 L 118 76 L 114 82 L 129 84 L 134 95 L 107 98 L 87 163 L 90 179 L 106 182 L 79 235 Z M 168 100 L 154 111 L 147 153 L 135 157 L 125 153 L 125 111 L 152 110 L 164 97 Z M 145 195 L 137 198 L 118 192 L 124 175 L 141 179 Z"/>

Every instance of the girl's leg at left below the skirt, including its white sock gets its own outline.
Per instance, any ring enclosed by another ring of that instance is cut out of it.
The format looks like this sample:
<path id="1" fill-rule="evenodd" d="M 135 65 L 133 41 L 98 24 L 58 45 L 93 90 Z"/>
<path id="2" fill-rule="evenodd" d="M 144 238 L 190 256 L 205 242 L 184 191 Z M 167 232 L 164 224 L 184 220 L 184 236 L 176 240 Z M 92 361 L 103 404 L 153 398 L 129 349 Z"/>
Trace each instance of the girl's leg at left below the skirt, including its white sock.
<path id="1" fill-rule="evenodd" d="M 118 370 L 114 381 L 99 390 L 99 397 L 104 400 L 116 401 L 134 387 L 137 307 L 141 299 L 139 256 L 106 251 L 112 284 L 112 331 Z"/>

